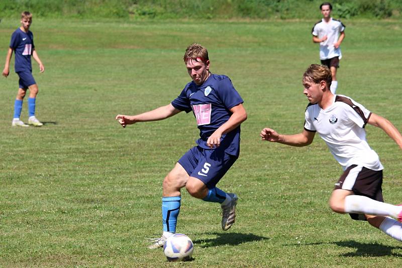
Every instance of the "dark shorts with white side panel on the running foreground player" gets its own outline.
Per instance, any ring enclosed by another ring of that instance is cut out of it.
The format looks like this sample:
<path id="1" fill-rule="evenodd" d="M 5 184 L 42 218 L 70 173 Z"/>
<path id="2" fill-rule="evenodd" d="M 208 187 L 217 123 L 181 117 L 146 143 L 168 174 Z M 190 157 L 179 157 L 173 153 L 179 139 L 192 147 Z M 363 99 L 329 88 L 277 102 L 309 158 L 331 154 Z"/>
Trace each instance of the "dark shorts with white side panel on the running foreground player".
<path id="1" fill-rule="evenodd" d="M 352 165 L 342 174 L 335 184 L 335 189 L 351 190 L 355 195 L 367 196 L 379 202 L 382 197 L 382 170 L 371 170 L 363 166 Z M 364 214 L 350 213 L 354 220 L 366 220 Z"/>

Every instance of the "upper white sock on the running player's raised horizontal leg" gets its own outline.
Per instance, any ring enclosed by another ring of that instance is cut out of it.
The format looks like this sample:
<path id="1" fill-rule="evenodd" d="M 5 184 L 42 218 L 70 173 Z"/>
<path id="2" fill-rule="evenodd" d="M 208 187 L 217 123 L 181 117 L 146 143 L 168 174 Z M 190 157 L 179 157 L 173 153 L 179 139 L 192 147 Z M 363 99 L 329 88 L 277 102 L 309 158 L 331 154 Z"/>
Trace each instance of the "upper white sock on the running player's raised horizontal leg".
<path id="1" fill-rule="evenodd" d="M 369 214 L 376 216 L 390 216 L 397 218 L 402 206 L 375 201 L 361 195 L 348 195 L 345 197 L 345 213 Z"/>

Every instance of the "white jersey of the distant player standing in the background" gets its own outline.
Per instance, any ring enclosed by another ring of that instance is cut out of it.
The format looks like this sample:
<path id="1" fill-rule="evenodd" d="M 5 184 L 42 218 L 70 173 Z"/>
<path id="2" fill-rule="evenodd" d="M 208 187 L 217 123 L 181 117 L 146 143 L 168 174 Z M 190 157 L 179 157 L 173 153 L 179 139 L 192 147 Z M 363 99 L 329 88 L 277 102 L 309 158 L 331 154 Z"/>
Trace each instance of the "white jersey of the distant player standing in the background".
<path id="1" fill-rule="evenodd" d="M 320 60 L 342 58 L 341 47 L 335 49 L 334 43 L 338 42 L 339 34 L 345 31 L 345 25 L 341 21 L 330 19 L 328 23 L 322 19 L 313 27 L 312 34 L 318 38 L 327 36 L 327 40 L 320 43 Z"/>

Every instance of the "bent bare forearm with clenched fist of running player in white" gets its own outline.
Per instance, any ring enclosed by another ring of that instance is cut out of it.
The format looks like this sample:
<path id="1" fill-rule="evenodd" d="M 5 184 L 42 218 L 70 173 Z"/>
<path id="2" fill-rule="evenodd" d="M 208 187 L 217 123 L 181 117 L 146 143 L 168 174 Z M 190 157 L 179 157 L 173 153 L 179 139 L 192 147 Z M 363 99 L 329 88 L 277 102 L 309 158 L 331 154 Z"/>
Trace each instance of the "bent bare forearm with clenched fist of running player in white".
<path id="1" fill-rule="evenodd" d="M 315 134 L 316 132 L 303 129 L 302 133 L 298 133 L 295 135 L 280 135 L 272 128 L 265 127 L 261 130 L 260 136 L 261 140 L 263 141 L 303 147 L 310 145 L 313 142 Z"/>

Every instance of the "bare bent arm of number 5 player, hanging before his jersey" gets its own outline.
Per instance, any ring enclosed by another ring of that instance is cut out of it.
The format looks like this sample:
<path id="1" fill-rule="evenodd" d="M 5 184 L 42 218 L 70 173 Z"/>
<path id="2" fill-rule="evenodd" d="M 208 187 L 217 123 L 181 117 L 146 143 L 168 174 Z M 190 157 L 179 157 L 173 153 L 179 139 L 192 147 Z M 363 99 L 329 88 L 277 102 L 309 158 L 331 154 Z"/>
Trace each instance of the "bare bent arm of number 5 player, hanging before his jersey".
<path id="1" fill-rule="evenodd" d="M 244 109 L 243 104 L 240 103 L 229 110 L 232 112 L 229 120 L 222 124 L 214 131 L 214 133 L 212 133 L 210 138 L 208 138 L 207 146 L 211 147 L 211 149 L 213 149 L 214 146 L 219 147 L 221 145 L 222 135 L 232 131 L 247 119 L 247 112 L 246 109 Z"/>

